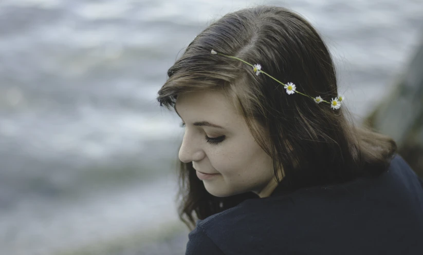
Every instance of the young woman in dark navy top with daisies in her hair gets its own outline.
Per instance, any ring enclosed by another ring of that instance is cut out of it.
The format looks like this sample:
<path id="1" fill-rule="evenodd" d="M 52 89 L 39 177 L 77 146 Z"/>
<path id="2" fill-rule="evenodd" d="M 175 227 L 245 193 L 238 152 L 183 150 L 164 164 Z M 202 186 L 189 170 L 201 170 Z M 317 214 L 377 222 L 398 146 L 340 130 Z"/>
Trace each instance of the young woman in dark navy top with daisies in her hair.
<path id="1" fill-rule="evenodd" d="M 186 254 L 423 254 L 421 180 L 355 126 L 316 30 L 281 7 L 229 13 L 168 71 Z"/>

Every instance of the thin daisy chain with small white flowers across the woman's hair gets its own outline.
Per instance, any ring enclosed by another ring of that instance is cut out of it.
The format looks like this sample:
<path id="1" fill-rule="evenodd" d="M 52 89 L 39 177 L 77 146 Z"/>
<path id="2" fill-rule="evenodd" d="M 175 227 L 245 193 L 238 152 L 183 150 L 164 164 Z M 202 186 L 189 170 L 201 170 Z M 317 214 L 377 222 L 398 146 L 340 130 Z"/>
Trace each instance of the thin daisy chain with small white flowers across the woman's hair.
<path id="1" fill-rule="evenodd" d="M 274 77 L 270 76 L 269 74 L 265 73 L 264 71 L 262 71 L 262 66 L 260 64 L 252 65 L 252 64 L 242 60 L 241 58 L 237 58 L 237 57 L 234 57 L 234 56 L 228 56 L 228 55 L 225 55 L 225 54 L 222 54 L 222 53 L 218 53 L 215 50 L 211 50 L 211 54 L 214 54 L 214 55 L 218 54 L 218 55 L 234 58 L 235 60 L 239 60 L 239 61 L 244 62 L 245 64 L 247 64 L 247 65 L 249 65 L 253 68 L 253 72 L 255 72 L 255 75 L 259 75 L 260 73 L 264 73 L 267 76 L 269 76 L 271 79 L 273 79 L 273 80 L 277 81 L 278 83 L 282 84 L 284 86 L 284 89 L 286 89 L 286 93 L 288 95 L 291 95 L 293 93 L 299 93 L 300 95 L 310 97 L 310 99 L 313 99 L 317 104 L 320 104 L 321 102 L 328 103 L 328 104 L 330 104 L 330 107 L 333 108 L 334 110 L 338 110 L 341 107 L 341 102 L 345 99 L 345 97 L 343 95 L 339 95 L 339 96 L 335 97 L 335 99 L 332 98 L 332 100 L 330 102 L 328 102 L 328 101 L 323 100 L 322 97 L 320 97 L 320 96 L 312 97 L 312 96 L 306 95 L 306 94 L 298 91 L 295 84 L 293 84 L 291 82 L 284 84 L 284 83 L 276 80 Z"/>

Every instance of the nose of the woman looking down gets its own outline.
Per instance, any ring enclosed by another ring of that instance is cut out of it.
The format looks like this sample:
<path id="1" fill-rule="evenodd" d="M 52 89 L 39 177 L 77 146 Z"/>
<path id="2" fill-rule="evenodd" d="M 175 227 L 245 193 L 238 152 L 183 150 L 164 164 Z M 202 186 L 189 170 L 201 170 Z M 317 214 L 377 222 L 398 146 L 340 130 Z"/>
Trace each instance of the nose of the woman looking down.
<path id="1" fill-rule="evenodd" d="M 182 144 L 179 148 L 179 160 L 183 163 L 190 163 L 192 161 L 200 161 L 204 158 L 205 152 L 201 148 L 201 142 L 198 138 L 193 138 L 185 132 L 182 139 Z"/>

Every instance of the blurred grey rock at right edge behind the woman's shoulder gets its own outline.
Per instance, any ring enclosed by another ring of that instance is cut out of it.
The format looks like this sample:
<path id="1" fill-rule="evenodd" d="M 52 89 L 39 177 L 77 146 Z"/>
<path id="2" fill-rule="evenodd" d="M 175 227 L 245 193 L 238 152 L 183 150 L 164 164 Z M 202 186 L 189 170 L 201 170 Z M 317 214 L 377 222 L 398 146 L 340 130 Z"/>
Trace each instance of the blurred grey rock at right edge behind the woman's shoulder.
<path id="1" fill-rule="evenodd" d="M 398 85 L 364 123 L 391 136 L 398 153 L 423 178 L 423 40 Z"/>

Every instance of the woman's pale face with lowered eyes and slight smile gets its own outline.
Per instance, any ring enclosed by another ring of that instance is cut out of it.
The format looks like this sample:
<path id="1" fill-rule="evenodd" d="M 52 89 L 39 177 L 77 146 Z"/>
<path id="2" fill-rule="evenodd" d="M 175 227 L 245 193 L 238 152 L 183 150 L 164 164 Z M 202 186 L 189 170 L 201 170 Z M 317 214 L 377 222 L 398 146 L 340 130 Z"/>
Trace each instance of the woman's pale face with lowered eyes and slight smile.
<path id="1" fill-rule="evenodd" d="M 228 197 L 252 191 L 262 198 L 270 195 L 278 185 L 271 158 L 222 92 L 179 94 L 175 109 L 185 124 L 179 159 L 192 162 L 199 172 L 216 173 L 203 180 L 210 194 Z"/>

